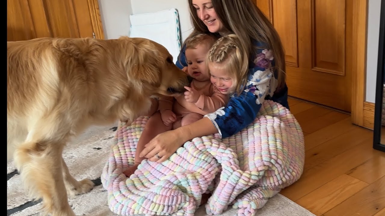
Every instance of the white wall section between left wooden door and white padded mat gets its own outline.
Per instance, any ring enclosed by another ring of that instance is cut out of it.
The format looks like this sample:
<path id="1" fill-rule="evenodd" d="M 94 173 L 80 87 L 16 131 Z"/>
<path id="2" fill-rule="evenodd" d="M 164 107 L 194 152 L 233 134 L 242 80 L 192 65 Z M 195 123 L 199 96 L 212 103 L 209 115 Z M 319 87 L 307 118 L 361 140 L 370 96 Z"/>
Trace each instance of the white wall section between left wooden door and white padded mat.
<path id="1" fill-rule="evenodd" d="M 98 1 L 104 38 L 116 39 L 120 36 L 129 36 L 131 26 L 130 15 L 132 14 L 130 0 Z"/>

